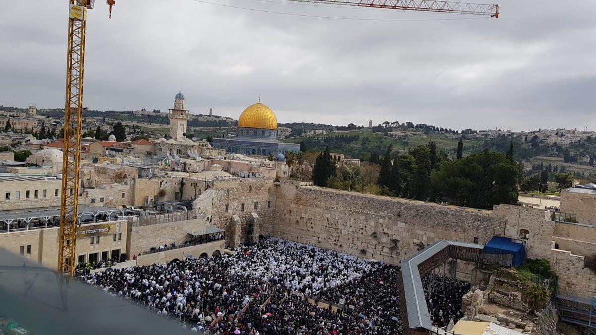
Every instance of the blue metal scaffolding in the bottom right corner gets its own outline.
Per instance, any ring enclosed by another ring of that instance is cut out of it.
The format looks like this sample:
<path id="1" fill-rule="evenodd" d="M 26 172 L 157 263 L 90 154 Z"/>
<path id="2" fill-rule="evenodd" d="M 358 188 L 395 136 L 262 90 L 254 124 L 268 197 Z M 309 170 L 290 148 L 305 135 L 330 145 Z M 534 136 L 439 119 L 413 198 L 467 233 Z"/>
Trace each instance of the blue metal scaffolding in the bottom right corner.
<path id="1" fill-rule="evenodd" d="M 557 294 L 556 302 L 561 321 L 579 325 L 587 335 L 596 335 L 596 298 Z"/>

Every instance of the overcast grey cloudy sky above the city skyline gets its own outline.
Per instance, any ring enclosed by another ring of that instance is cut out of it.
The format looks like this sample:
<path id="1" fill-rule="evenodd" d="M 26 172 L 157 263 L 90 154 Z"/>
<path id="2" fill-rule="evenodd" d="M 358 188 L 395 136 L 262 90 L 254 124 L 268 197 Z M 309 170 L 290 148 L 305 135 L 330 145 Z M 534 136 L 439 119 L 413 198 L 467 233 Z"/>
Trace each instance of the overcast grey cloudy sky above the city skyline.
<path id="1" fill-rule="evenodd" d="M 596 2 L 489 1 L 499 18 L 117 0 L 109 19 L 97 0 L 84 104 L 166 111 L 182 91 L 191 113 L 235 119 L 261 96 L 280 123 L 596 131 Z M 0 105 L 64 106 L 67 13 L 64 0 L 0 4 Z"/>

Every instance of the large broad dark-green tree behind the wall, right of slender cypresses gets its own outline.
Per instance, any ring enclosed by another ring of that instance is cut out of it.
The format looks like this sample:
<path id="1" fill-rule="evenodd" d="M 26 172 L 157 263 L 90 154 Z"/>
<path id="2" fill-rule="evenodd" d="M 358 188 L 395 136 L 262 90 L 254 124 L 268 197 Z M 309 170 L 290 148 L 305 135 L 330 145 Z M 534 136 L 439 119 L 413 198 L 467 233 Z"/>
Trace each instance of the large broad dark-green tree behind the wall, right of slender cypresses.
<path id="1" fill-rule="evenodd" d="M 485 149 L 461 160 L 443 162 L 431 175 L 432 201 L 492 209 L 517 203 L 517 163 Z"/>

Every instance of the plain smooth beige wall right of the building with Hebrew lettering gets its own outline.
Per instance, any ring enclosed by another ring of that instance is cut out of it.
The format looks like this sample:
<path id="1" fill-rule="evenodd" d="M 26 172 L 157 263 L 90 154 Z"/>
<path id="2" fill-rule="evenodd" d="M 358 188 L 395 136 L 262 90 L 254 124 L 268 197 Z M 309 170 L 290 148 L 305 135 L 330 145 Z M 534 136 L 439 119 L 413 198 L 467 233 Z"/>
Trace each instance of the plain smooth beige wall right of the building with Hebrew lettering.
<path id="1" fill-rule="evenodd" d="M 165 224 L 131 227 L 131 243 L 128 255 L 148 252 L 151 247 L 159 247 L 172 243 L 178 245 L 190 240 L 189 232 L 205 229 L 204 219 L 168 222 Z"/>

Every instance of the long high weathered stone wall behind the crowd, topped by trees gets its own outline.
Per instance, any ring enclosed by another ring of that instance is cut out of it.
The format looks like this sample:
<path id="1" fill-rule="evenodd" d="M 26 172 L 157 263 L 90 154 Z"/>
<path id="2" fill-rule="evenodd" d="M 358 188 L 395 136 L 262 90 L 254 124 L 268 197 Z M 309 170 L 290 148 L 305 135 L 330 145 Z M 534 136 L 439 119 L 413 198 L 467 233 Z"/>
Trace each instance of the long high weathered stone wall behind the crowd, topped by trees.
<path id="1" fill-rule="evenodd" d="M 487 210 L 301 187 L 287 180 L 276 191 L 275 236 L 393 264 L 437 240 L 483 244 L 505 231 L 505 219 Z"/>

